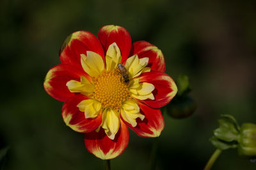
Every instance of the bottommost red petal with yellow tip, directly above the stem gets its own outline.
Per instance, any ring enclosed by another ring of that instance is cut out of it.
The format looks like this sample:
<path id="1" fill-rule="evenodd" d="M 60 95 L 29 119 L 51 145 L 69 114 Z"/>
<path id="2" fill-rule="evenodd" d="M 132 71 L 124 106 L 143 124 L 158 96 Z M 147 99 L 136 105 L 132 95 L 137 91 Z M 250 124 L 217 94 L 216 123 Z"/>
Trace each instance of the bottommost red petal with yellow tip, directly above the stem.
<path id="1" fill-rule="evenodd" d="M 115 135 L 115 139 L 111 140 L 100 128 L 99 132 L 92 131 L 84 136 L 84 144 L 87 150 L 101 159 L 111 159 L 118 157 L 128 145 L 129 131 L 128 127 L 120 121 L 120 128 Z"/>

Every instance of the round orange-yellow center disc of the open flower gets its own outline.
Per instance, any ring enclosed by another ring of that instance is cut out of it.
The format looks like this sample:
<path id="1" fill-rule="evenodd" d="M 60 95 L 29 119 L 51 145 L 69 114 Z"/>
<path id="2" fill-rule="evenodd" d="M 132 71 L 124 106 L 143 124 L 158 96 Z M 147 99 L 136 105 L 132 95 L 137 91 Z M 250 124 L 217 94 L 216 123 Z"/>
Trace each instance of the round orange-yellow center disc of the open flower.
<path id="1" fill-rule="evenodd" d="M 103 108 L 118 110 L 122 102 L 130 97 L 128 84 L 122 81 L 122 75 L 118 70 L 103 71 L 99 77 L 93 78 L 93 83 L 94 98 L 100 101 Z"/>

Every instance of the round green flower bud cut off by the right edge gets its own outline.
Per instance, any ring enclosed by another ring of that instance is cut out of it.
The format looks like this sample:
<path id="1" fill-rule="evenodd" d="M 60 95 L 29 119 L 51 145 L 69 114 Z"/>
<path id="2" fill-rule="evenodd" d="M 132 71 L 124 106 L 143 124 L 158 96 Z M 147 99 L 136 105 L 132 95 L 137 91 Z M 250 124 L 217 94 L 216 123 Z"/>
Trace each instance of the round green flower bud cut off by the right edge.
<path id="1" fill-rule="evenodd" d="M 238 140 L 238 152 L 246 157 L 256 157 L 256 125 L 244 123 Z"/>

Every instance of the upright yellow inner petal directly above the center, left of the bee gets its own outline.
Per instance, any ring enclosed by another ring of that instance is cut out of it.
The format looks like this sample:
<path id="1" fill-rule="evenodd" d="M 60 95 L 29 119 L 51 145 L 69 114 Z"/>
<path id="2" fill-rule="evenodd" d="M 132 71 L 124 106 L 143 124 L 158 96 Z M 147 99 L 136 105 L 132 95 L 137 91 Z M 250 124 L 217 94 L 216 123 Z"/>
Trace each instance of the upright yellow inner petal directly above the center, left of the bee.
<path id="1" fill-rule="evenodd" d="M 107 71 L 115 70 L 118 63 L 121 62 L 122 56 L 120 49 L 116 43 L 109 45 L 107 54 L 106 54 L 106 69 Z"/>

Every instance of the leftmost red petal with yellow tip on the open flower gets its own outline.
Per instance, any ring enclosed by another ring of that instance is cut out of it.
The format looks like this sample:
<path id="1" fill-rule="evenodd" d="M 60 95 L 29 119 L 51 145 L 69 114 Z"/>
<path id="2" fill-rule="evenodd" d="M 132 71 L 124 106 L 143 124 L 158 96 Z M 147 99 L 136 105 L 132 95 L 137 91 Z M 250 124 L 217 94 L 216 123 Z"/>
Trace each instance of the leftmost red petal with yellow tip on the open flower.
<path id="1" fill-rule="evenodd" d="M 45 91 L 53 98 L 65 102 L 68 98 L 74 96 L 66 86 L 70 80 L 80 81 L 81 76 L 88 79 L 90 77 L 83 70 L 72 65 L 60 64 L 52 67 L 47 72 L 44 88 Z"/>

